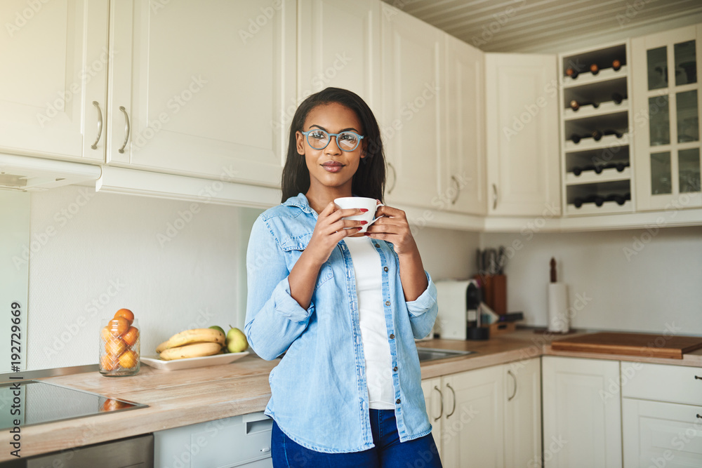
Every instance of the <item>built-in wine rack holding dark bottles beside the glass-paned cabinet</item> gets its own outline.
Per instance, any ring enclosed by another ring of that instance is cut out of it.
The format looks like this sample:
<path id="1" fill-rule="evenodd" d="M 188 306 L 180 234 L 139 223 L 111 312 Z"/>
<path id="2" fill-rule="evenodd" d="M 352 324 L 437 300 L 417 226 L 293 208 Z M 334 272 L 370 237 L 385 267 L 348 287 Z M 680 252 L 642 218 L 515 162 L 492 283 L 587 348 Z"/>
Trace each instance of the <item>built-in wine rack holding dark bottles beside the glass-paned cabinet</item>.
<path id="1" fill-rule="evenodd" d="M 565 215 L 631 213 L 629 44 L 559 55 Z"/>

